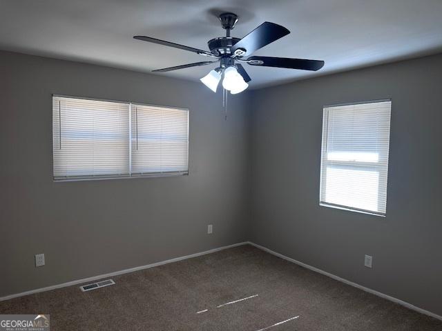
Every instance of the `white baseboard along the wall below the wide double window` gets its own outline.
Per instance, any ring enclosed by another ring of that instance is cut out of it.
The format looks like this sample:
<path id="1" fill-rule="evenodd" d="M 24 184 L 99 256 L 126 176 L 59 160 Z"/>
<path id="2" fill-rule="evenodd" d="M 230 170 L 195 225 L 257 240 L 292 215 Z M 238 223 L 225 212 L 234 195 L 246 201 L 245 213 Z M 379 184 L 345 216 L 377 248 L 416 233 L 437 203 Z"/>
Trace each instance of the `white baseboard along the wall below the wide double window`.
<path id="1" fill-rule="evenodd" d="M 157 267 L 158 265 L 164 265 L 167 263 L 173 263 L 173 262 L 182 261 L 185 259 L 191 259 L 193 257 L 200 257 L 201 255 L 219 252 L 220 250 L 227 250 L 227 248 L 233 248 L 233 247 L 240 246 L 240 245 L 247 245 L 248 243 L 249 243 L 248 241 L 244 241 L 242 243 L 234 243 L 233 245 L 227 245 L 227 246 L 222 246 L 219 248 L 213 248 L 213 250 L 206 250 L 204 252 L 198 252 L 195 254 L 185 255 L 184 257 L 175 257 L 174 259 L 169 259 L 166 261 L 151 263 L 151 264 L 147 264 L 147 265 L 141 265 L 139 267 L 110 272 L 108 274 L 99 274 L 99 275 L 93 276 L 93 277 L 88 277 L 88 278 L 84 278 L 84 279 L 77 279 L 76 281 L 68 281 L 67 283 L 61 283 L 61 284 L 57 284 L 57 285 L 47 286 L 46 288 L 37 288 L 35 290 L 29 290 L 29 291 L 21 292 L 21 293 L 17 293 L 17 294 L 10 294 L 10 295 L 7 295 L 6 297 L 0 297 L 0 301 L 9 300 L 9 299 L 17 298 L 17 297 L 23 297 L 25 295 L 35 294 L 35 293 L 39 293 L 39 292 L 56 290 L 57 288 L 66 288 L 68 286 L 78 285 L 81 283 L 88 283 L 90 281 L 97 281 L 98 279 L 113 277 L 113 276 L 117 276 L 119 274 L 127 274 L 128 272 L 134 272 L 134 271 L 138 271 L 138 270 L 153 268 L 153 267 Z"/>

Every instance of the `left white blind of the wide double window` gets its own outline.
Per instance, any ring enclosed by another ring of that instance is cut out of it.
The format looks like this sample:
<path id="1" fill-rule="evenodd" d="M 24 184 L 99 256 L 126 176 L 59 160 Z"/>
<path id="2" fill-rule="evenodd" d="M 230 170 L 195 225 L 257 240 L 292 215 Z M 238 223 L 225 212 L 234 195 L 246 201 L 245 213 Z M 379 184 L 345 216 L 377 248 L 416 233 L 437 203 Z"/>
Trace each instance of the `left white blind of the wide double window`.
<path id="1" fill-rule="evenodd" d="M 129 104 L 52 98 L 54 179 L 129 174 Z"/>

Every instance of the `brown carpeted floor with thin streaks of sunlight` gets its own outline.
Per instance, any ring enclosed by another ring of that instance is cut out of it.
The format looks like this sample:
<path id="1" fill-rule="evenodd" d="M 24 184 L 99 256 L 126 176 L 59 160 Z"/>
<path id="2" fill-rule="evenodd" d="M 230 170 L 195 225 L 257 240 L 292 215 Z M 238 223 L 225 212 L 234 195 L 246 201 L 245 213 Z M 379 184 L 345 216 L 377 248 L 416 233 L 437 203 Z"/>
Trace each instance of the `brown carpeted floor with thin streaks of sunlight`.
<path id="1" fill-rule="evenodd" d="M 0 313 L 50 314 L 52 331 L 442 330 L 442 321 L 250 245 L 112 279 L 90 292 L 2 301 Z"/>

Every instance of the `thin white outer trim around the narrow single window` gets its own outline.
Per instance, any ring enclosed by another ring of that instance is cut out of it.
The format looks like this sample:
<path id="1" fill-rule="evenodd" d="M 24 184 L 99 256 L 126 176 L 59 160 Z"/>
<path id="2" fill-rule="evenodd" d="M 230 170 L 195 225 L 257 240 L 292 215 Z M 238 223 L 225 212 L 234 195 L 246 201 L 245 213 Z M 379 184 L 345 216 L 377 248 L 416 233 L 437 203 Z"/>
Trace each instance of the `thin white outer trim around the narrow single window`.
<path id="1" fill-rule="evenodd" d="M 386 192 L 385 192 L 385 203 L 387 203 L 387 198 L 388 198 L 388 173 L 390 170 L 390 146 L 391 146 L 391 139 L 392 139 L 392 134 L 391 134 L 391 121 L 392 121 L 392 112 L 393 112 L 393 101 L 392 98 L 386 98 L 386 99 L 372 99 L 372 100 L 366 100 L 366 101 L 354 101 L 354 102 L 346 102 L 346 103 L 335 103 L 335 104 L 328 104 L 328 105 L 324 105 L 322 110 L 324 112 L 325 108 L 332 108 L 332 107 L 343 107 L 343 106 L 356 106 L 356 105 L 364 105 L 366 103 L 381 103 L 381 102 L 390 102 L 390 128 L 389 128 L 389 141 L 388 141 L 388 154 L 387 154 L 387 158 L 388 158 L 388 164 L 387 164 L 387 179 L 386 179 L 386 183 L 387 183 L 387 188 L 386 188 Z M 319 177 L 319 205 L 321 207 L 327 207 L 327 208 L 333 208 L 333 209 L 339 209 L 339 210 L 347 210 L 349 212 L 358 212 L 360 214 L 368 214 L 368 215 L 373 215 L 373 216 L 377 216 L 377 217 L 387 217 L 387 205 L 385 207 L 385 212 L 374 212 L 373 210 L 364 210 L 361 208 L 354 208 L 354 207 L 349 207 L 348 205 L 338 205 L 335 203 L 327 203 L 327 202 L 323 202 L 321 201 L 321 195 L 322 195 L 322 190 L 323 190 L 323 146 L 324 146 L 324 132 L 323 132 L 323 128 L 324 128 L 324 116 L 323 116 L 323 121 L 322 121 L 322 125 L 321 125 L 321 143 L 320 143 L 320 177 Z M 346 163 L 349 165 L 349 162 L 347 161 L 334 161 L 338 164 L 341 165 L 345 165 Z M 366 164 L 373 164 L 372 162 L 367 162 Z M 355 164 L 353 164 L 355 165 Z M 362 165 L 361 165 L 362 166 Z"/>

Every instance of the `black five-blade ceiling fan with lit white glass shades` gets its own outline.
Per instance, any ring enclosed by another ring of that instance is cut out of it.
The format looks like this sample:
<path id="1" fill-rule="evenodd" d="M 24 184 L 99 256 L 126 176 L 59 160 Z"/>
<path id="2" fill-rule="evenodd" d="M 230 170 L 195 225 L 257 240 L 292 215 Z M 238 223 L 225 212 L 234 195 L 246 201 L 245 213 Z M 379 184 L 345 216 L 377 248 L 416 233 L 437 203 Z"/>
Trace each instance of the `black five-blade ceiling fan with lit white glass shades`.
<path id="1" fill-rule="evenodd" d="M 151 37 L 135 36 L 134 38 L 148 41 L 150 43 L 158 43 L 164 46 L 180 48 L 181 50 L 188 50 L 189 52 L 194 52 L 203 55 L 204 57 L 215 59 L 214 61 L 202 61 L 184 64 L 182 66 L 153 70 L 153 72 L 167 72 L 196 66 L 207 66 L 211 63 L 220 62 L 218 68 L 211 70 L 209 74 L 200 79 L 202 83 L 213 90 L 213 92 L 216 92 L 223 74 L 224 79 L 222 80 L 222 87 L 225 90 L 229 90 L 231 94 L 242 92 L 249 86 L 248 82 L 251 81 L 251 78 L 241 63 L 247 63 L 251 66 L 312 71 L 319 70 L 324 66 L 324 61 L 318 60 L 291 59 L 285 57 L 250 57 L 250 55 L 256 50 L 284 37 L 289 34 L 290 31 L 276 23 L 265 22 L 247 34 L 244 38 L 239 39 L 236 37 L 230 37 L 231 30 L 235 28 L 235 24 L 238 22 L 238 16 L 231 12 L 225 12 L 220 14 L 219 19 L 222 28 L 226 30 L 226 37 L 217 37 L 209 40 L 207 45 L 209 46 L 210 52 Z"/>

